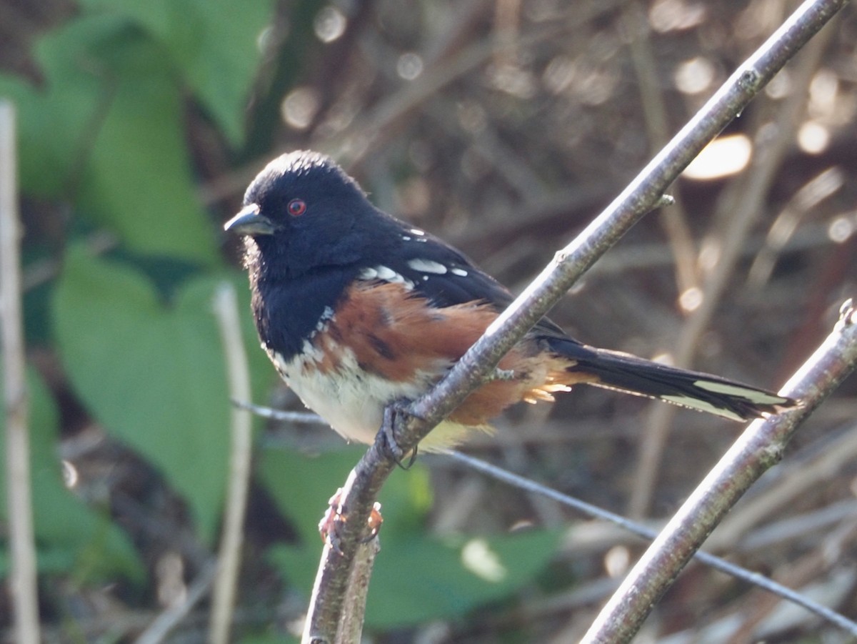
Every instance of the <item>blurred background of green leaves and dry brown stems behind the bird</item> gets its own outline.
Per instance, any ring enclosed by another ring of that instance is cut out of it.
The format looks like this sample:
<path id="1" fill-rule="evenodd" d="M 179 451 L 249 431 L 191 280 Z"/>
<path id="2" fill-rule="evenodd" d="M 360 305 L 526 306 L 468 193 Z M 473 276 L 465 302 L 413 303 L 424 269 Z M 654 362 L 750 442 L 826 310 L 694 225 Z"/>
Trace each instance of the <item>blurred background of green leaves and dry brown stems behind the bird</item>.
<path id="1" fill-rule="evenodd" d="M 0 2 L 0 96 L 19 120 L 45 639 L 133 641 L 216 551 L 230 403 L 211 301 L 224 280 L 241 294 L 255 402 L 301 408 L 256 348 L 237 240 L 220 232 L 267 159 L 333 153 L 378 206 L 517 291 L 794 6 Z M 554 319 L 592 344 L 778 387 L 854 295 L 855 111 L 848 8 L 674 186 L 678 204 L 637 226 Z M 813 416 L 734 528 L 714 535 L 718 551 L 851 617 L 855 393 L 846 383 Z M 469 448 L 662 518 L 737 430 L 576 390 L 512 410 Z M 255 447 L 233 635 L 283 641 L 306 608 L 315 523 L 361 449 L 324 428 L 261 422 Z M 576 641 L 643 547 L 441 458 L 397 472 L 381 500 L 371 641 Z M 4 545 L 5 516 L 3 491 Z M 488 553 L 489 571 L 468 564 L 473 552 Z M 740 624 L 733 641 L 830 635 L 776 608 L 691 567 L 646 629 L 675 642 L 728 620 Z M 3 587 L 6 639 L 9 620 Z M 170 641 L 203 641 L 206 623 L 203 600 Z"/>

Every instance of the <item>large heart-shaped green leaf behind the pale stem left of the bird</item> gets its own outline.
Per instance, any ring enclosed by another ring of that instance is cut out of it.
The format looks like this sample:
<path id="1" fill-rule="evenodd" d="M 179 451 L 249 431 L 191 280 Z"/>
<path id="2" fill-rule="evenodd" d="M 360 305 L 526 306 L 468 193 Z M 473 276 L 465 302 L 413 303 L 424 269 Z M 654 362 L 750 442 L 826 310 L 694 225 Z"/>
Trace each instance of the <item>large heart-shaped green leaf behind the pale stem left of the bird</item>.
<path id="1" fill-rule="evenodd" d="M 225 358 L 212 310 L 221 281 L 192 280 L 167 306 L 133 269 L 72 247 L 54 299 L 57 344 L 76 391 L 106 430 L 159 466 L 208 539 L 230 442 Z M 244 317 L 249 338 L 255 332 Z M 261 352 L 249 358 L 255 382 L 267 380 L 272 370 Z"/>

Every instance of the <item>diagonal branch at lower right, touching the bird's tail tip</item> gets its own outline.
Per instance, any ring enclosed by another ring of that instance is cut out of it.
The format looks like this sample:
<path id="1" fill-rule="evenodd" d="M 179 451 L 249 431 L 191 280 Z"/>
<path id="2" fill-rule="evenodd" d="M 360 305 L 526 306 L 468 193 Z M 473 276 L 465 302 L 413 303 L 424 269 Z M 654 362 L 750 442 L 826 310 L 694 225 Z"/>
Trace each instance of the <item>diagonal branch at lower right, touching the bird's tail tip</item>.
<path id="1" fill-rule="evenodd" d="M 802 400 L 805 406 L 747 427 L 622 581 L 582 641 L 629 641 L 711 530 L 750 485 L 782 458 L 798 424 L 855 368 L 857 310 L 849 300 L 836 328 L 780 392 Z M 849 632 L 857 635 L 857 629 Z"/>

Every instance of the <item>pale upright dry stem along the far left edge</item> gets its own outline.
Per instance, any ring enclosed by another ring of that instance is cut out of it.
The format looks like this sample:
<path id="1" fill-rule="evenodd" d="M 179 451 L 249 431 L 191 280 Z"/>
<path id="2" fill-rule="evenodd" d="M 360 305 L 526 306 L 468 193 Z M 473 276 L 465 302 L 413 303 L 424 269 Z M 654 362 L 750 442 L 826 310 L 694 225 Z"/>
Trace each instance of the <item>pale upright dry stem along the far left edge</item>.
<path id="1" fill-rule="evenodd" d="M 15 615 L 15 641 L 38 644 L 39 597 L 30 491 L 16 153 L 15 108 L 9 101 L 0 100 L 0 316 L 3 323 L 3 404 L 11 552 L 9 594 Z"/>

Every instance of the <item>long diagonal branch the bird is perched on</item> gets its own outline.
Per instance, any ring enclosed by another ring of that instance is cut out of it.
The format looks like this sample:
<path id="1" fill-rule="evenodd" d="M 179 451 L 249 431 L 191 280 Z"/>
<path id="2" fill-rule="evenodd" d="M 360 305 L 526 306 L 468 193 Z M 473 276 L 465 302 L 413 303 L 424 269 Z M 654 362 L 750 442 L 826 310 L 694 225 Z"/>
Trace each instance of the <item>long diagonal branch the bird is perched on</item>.
<path id="1" fill-rule="evenodd" d="M 741 65 L 697 115 L 674 136 L 626 190 L 587 226 L 578 238 L 560 250 L 554 261 L 504 311 L 482 338 L 428 394 L 408 409 L 408 418 L 395 418 L 399 447 L 408 451 L 458 406 L 488 376 L 500 358 L 548 310 L 599 256 L 610 248 L 661 199 L 688 163 L 776 75 L 847 0 L 807 0 L 777 32 Z M 378 491 L 395 467 L 384 438 L 375 443 L 352 470 L 345 483 L 341 508 L 349 521 L 338 534 L 339 549 L 327 545 L 315 580 L 313 598 L 303 634 L 304 642 L 337 641 L 342 598 L 351 574 L 357 545 Z"/>

